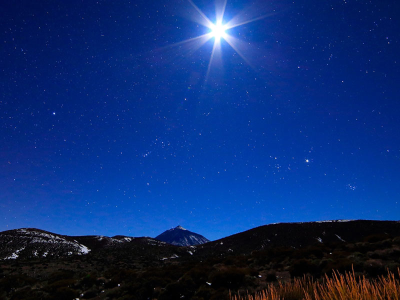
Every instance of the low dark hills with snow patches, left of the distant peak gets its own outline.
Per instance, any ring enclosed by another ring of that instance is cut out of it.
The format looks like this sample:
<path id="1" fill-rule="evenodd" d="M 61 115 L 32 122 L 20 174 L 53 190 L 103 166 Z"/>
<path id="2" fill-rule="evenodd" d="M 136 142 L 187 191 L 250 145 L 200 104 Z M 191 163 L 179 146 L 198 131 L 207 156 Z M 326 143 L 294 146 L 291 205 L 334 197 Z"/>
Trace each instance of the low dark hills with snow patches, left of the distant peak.
<path id="1" fill-rule="evenodd" d="M 151 237 L 67 236 L 36 228 L 0 232 L 0 260 L 60 258 L 94 253 L 112 253 L 115 257 L 128 253 L 151 260 L 180 256 L 182 251 L 176 250 L 177 247 Z"/>

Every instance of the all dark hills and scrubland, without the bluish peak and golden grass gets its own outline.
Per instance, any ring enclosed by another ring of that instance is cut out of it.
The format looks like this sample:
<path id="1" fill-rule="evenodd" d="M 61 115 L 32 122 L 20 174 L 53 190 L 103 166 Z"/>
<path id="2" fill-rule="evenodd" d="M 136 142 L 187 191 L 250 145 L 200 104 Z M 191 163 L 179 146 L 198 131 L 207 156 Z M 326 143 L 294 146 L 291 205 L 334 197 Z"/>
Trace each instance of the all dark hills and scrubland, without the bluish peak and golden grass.
<path id="1" fill-rule="evenodd" d="M 0 232 L 0 257 L 0 299 L 228 299 L 332 269 L 397 273 L 400 222 L 278 223 L 196 246 L 25 228 Z"/>

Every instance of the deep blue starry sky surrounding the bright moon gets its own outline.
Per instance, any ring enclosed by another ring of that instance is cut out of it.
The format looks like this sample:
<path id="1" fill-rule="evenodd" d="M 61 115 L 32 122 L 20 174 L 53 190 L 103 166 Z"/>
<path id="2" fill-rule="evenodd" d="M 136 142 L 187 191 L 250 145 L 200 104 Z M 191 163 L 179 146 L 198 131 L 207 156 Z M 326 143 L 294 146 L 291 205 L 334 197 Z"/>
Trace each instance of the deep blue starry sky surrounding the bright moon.
<path id="1" fill-rule="evenodd" d="M 0 230 L 399 219 L 400 3 L 223 5 L 2 2 Z"/>

